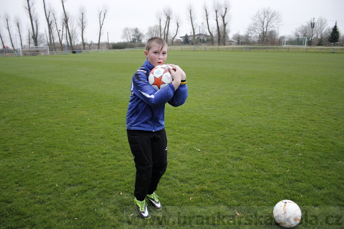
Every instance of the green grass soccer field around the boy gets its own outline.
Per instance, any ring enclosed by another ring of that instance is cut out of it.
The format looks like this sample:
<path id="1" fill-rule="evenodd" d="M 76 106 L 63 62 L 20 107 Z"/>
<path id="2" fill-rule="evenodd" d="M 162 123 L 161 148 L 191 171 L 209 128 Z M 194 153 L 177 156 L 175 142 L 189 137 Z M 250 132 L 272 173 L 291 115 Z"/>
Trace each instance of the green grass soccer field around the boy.
<path id="1" fill-rule="evenodd" d="M 343 54 L 170 51 L 189 97 L 166 105 L 165 207 L 148 222 L 125 130 L 143 61 L 0 58 L 0 228 L 279 228 L 282 199 L 298 228 L 343 228 Z"/>

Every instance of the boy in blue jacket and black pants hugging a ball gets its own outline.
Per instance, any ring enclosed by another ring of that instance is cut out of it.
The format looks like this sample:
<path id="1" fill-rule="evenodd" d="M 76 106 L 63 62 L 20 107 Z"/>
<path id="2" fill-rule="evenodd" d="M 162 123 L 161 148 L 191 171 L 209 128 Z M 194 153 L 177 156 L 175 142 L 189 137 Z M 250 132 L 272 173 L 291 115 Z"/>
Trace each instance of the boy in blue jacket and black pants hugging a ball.
<path id="1" fill-rule="evenodd" d="M 134 190 L 136 209 L 140 217 L 150 219 L 146 197 L 155 210 L 162 208 L 155 191 L 167 167 L 165 103 L 172 106 L 184 104 L 187 86 L 184 71 L 176 65 L 170 65 L 173 82 L 168 86 L 156 91 L 149 84 L 150 71 L 164 64 L 167 58 L 167 44 L 163 39 L 150 38 L 144 55 L 147 60 L 132 77 L 126 129 L 136 167 Z"/>

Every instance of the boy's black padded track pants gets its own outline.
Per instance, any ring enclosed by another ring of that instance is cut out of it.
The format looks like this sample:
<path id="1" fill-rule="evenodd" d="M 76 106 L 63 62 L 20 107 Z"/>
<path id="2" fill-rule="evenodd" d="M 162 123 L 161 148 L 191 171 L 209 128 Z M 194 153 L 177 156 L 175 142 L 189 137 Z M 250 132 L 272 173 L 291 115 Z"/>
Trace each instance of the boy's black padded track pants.
<path id="1" fill-rule="evenodd" d="M 127 130 L 131 153 L 136 167 L 134 196 L 143 201 L 157 190 L 167 167 L 165 129 L 159 131 Z"/>

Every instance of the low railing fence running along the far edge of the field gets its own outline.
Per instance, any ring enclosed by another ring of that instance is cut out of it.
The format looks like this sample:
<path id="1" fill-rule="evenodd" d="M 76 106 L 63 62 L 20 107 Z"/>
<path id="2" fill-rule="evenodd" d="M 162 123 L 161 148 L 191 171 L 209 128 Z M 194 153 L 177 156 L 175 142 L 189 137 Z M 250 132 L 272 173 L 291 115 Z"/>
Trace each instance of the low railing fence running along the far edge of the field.
<path id="1" fill-rule="evenodd" d="M 143 51 L 145 47 L 125 49 L 91 49 L 73 51 L 50 51 L 35 55 L 66 55 L 66 54 L 89 54 L 89 53 L 115 53 L 126 51 Z M 344 53 L 344 47 L 323 47 L 323 46 L 181 46 L 168 47 L 176 51 L 283 51 L 283 52 L 306 52 L 306 53 Z M 0 49 L 0 56 L 20 56 L 20 51 Z"/>

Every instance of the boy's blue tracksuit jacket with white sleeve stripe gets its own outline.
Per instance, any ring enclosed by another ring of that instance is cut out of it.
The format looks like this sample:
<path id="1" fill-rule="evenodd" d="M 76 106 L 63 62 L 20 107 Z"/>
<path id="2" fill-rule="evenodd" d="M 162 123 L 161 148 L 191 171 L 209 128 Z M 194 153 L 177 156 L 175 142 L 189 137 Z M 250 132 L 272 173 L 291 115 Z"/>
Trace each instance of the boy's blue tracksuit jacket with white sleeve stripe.
<path id="1" fill-rule="evenodd" d="M 158 131 L 165 127 L 165 103 L 180 106 L 187 98 L 187 86 L 174 90 L 172 83 L 156 91 L 148 82 L 153 66 L 148 60 L 134 73 L 128 105 L 126 128 L 129 130 Z"/>

